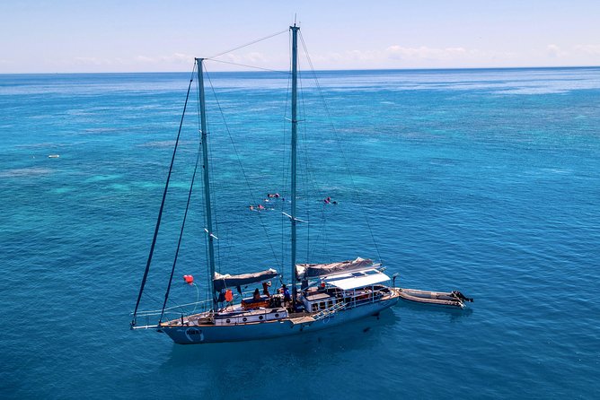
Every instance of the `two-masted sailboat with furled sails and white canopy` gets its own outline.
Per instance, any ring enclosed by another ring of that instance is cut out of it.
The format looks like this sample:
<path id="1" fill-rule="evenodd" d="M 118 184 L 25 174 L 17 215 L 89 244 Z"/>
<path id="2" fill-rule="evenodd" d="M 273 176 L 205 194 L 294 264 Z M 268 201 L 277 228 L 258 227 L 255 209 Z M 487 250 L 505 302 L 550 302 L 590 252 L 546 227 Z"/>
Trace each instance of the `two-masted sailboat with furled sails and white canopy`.
<path id="1" fill-rule="evenodd" d="M 293 266 L 293 271 L 289 287 L 283 285 L 282 291 L 269 293 L 267 282 L 278 276 L 278 272 L 274 269 L 249 274 L 216 273 L 214 249 L 216 236 L 213 233 L 210 169 L 207 167 L 207 115 L 203 78 L 205 59 L 196 58 L 199 80 L 199 129 L 204 162 L 202 169 L 204 222 L 207 233 L 209 264 L 207 278 L 210 291 L 208 301 L 211 304 L 209 309 L 199 313 L 181 313 L 181 316 L 172 319 L 163 318 L 164 305 L 168 297 L 167 290 L 158 323 L 138 324 L 138 317 L 148 317 L 152 314 L 152 312 L 138 312 L 138 306 L 152 259 L 160 214 L 163 210 L 161 206 L 146 272 L 137 297 L 136 309 L 133 312 L 132 329 L 155 329 L 171 337 L 173 342 L 181 344 L 260 340 L 313 332 L 350 323 L 360 318 L 378 316 L 381 311 L 398 302 L 400 290 L 395 288 L 395 276 L 391 278 L 385 274 L 384 267 L 371 259 L 354 257 L 350 260 L 326 264 L 296 262 L 296 225 L 301 222 L 296 215 L 297 44 L 300 28 L 295 23 L 289 27 L 289 30 L 292 36 L 291 208 L 289 213 L 285 213 L 291 229 L 290 265 Z M 167 178 L 167 185 L 168 182 L 169 178 Z M 166 188 L 163 196 L 166 196 Z M 260 294 L 257 289 L 252 296 L 243 297 L 241 287 L 260 283 L 263 283 L 263 294 Z M 239 301 L 234 300 L 234 290 L 241 295 Z"/>

